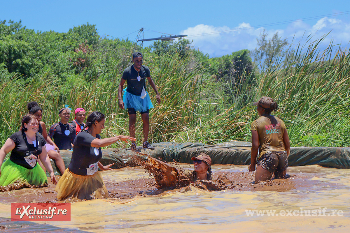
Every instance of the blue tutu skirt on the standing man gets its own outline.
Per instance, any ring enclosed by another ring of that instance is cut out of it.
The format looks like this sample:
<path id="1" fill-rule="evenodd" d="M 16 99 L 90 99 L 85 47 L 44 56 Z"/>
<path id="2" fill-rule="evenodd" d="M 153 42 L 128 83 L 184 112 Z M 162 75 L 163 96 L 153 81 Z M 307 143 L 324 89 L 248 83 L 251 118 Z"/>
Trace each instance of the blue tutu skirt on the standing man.
<path id="1" fill-rule="evenodd" d="M 153 108 L 148 92 L 144 99 L 140 95 L 133 95 L 124 89 L 123 102 L 126 108 L 134 108 L 136 111 L 145 112 L 147 109 Z"/>

